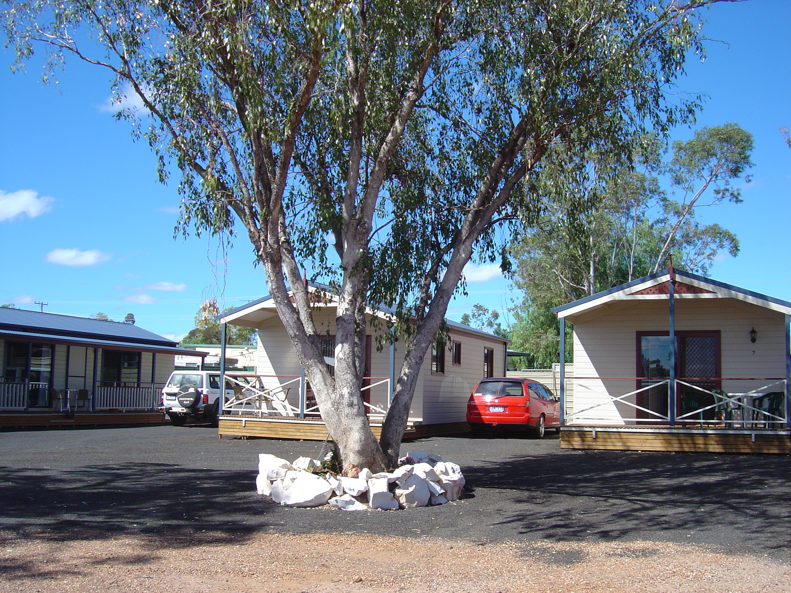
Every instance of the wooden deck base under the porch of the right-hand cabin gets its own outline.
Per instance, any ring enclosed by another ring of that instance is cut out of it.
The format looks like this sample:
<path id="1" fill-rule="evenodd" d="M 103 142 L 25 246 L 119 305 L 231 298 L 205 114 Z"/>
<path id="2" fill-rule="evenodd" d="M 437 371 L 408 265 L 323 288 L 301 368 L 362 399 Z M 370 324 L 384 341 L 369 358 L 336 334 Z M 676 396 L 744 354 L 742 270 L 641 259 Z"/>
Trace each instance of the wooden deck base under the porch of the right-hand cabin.
<path id="1" fill-rule="evenodd" d="M 668 426 L 563 426 L 564 449 L 791 454 L 791 431 L 670 428 Z"/>

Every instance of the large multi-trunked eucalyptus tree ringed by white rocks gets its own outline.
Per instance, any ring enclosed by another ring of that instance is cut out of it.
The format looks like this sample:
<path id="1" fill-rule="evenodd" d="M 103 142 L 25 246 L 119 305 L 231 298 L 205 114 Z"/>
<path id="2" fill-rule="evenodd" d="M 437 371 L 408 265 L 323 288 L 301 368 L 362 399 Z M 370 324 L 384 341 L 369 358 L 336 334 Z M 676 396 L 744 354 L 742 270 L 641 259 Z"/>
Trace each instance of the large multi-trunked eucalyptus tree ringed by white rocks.
<path id="1" fill-rule="evenodd" d="M 10 0 L 3 16 L 17 66 L 41 49 L 47 79 L 73 56 L 138 97 L 122 116 L 163 178 L 180 169 L 184 229 L 244 225 L 354 475 L 395 463 L 464 265 L 498 259 L 498 229 L 539 212 L 548 147 L 619 153 L 693 119 L 697 100 L 668 91 L 710 3 Z M 337 286 L 334 377 L 303 266 Z M 405 360 L 377 443 L 360 387 L 380 303 Z"/>

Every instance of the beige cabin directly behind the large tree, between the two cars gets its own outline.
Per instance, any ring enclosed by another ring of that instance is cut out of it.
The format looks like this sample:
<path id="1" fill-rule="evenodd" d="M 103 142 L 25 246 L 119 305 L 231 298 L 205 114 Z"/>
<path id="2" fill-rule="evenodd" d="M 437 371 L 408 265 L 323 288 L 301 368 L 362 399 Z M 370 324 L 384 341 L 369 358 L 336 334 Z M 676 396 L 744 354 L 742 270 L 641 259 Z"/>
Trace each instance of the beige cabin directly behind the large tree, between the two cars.
<path id="1" fill-rule="evenodd" d="M 335 363 L 337 301 L 329 286 L 310 283 L 308 290 L 313 294 L 320 293 L 315 298 L 313 315 L 320 333 L 325 336 L 322 338 L 324 360 L 332 368 Z M 384 323 L 388 315 L 389 312 L 381 310 L 369 310 L 366 315 L 369 334 L 366 335 L 363 399 L 372 426 L 384 418 L 392 398 L 392 385 L 403 364 L 404 349 L 398 342 L 395 346 L 384 344 L 383 348 L 377 348 L 380 343 L 377 338 L 388 331 Z M 225 313 L 220 321 L 258 330 L 255 384 L 237 387 L 236 400 L 225 405 L 226 420 L 267 417 L 320 421 L 315 398 L 305 381 L 274 301 L 265 296 Z M 447 324 L 448 343 L 438 352 L 433 349 L 420 369 L 410 410 L 411 426 L 464 424 L 467 399 L 475 384 L 486 376 L 505 375 L 508 347 L 505 338 L 451 320 Z"/>

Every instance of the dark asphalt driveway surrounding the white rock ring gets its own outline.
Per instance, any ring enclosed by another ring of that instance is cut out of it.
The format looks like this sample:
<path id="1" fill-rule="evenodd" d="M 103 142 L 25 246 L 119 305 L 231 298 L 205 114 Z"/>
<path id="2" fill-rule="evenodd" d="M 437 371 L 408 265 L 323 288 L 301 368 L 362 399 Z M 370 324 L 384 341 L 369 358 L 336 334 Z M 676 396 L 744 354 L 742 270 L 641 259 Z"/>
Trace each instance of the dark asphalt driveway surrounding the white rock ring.
<path id="1" fill-rule="evenodd" d="M 567 451 L 556 436 L 403 445 L 459 463 L 467 497 L 409 512 L 282 508 L 255 493 L 257 455 L 320 443 L 218 439 L 205 426 L 0 432 L 0 529 L 61 538 L 145 532 L 366 532 L 477 542 L 638 539 L 791 561 L 791 458 Z"/>

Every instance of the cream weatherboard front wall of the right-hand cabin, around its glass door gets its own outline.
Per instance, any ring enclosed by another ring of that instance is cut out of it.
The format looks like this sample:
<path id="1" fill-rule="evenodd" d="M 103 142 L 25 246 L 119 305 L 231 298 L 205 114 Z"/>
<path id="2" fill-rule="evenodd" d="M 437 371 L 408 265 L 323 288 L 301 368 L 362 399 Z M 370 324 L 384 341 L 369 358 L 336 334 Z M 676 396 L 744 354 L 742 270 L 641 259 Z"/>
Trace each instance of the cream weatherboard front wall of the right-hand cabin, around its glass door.
<path id="1" fill-rule="evenodd" d="M 623 424 L 635 417 L 631 406 L 610 402 L 605 393 L 618 397 L 634 391 L 634 379 L 581 379 L 580 377 L 635 377 L 637 332 L 667 331 L 668 300 L 630 300 L 609 312 L 577 315 L 574 323 L 574 410 L 579 412 L 607 402 L 569 423 L 596 419 Z M 570 319 L 572 320 L 572 319 Z M 755 327 L 758 339 L 750 342 Z M 720 330 L 723 377 L 785 376 L 785 318 L 781 312 L 732 298 L 676 300 L 676 331 Z M 722 382 L 729 393 L 744 393 L 770 381 Z M 782 391 L 782 384 L 769 391 Z M 637 402 L 636 396 L 627 399 Z"/>

